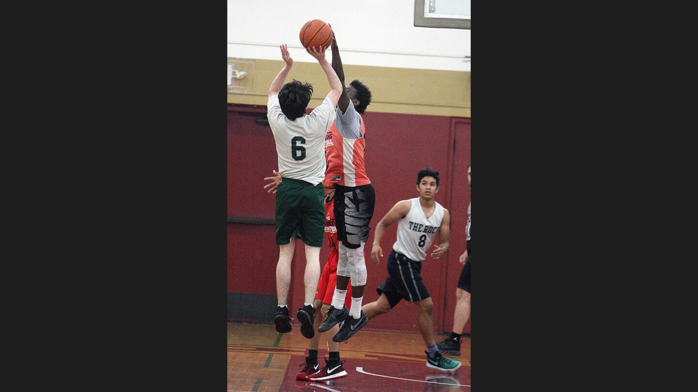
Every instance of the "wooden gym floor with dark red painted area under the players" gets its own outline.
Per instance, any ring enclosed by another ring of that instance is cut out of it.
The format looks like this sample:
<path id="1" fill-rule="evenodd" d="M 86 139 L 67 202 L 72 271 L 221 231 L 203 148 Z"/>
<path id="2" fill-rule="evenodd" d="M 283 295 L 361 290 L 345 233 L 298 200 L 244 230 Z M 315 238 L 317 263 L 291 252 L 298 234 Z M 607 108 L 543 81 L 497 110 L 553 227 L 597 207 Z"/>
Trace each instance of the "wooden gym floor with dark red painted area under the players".
<path id="1" fill-rule="evenodd" d="M 315 331 L 315 333 L 318 333 Z M 440 341 L 445 335 L 436 336 Z M 424 341 L 418 331 L 399 333 L 363 329 L 339 346 L 348 377 L 325 383 L 296 381 L 308 343 L 297 324 L 278 333 L 274 324 L 228 322 L 228 392 L 237 391 L 470 391 L 470 338 L 461 338 L 461 361 L 455 372 L 426 367 Z M 325 365 L 325 334 L 318 363 Z"/>

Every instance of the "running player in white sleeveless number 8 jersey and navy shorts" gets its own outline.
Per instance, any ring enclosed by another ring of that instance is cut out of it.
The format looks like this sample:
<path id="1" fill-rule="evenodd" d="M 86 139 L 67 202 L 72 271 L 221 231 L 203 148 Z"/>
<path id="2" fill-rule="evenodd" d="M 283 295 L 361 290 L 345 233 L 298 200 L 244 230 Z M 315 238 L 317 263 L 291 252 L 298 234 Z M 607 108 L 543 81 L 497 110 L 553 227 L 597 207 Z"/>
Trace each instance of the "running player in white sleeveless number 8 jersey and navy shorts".
<path id="1" fill-rule="evenodd" d="M 420 169 L 417 172 L 419 197 L 397 202 L 376 226 L 371 250 L 373 262 L 378 264 L 378 257 L 383 257 L 380 240 L 383 239 L 385 229 L 395 221 L 398 221 L 397 241 L 388 257 L 388 277 L 377 289 L 378 301 L 366 303 L 362 311 L 371 319 L 389 312 L 403 299 L 415 303 L 419 332 L 426 345 L 426 365 L 452 372 L 460 368 L 461 363 L 441 355 L 436 346 L 431 318 L 433 303 L 419 274 L 422 261 L 426 258 L 426 250 L 431 246 L 436 233 L 439 235 L 439 244 L 434 246 L 431 257 L 438 259 L 448 250 L 450 216 L 447 209 L 434 201 L 438 183 L 436 170 L 429 167 Z"/>

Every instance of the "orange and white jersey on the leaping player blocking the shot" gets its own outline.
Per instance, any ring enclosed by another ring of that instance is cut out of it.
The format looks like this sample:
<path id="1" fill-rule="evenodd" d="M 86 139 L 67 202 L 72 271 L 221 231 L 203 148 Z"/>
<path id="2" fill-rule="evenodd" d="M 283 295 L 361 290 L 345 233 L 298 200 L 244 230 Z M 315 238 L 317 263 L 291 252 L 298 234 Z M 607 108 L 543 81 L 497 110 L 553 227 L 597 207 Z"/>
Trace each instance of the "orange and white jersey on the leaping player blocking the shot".
<path id="1" fill-rule="evenodd" d="M 359 115 L 357 114 L 357 116 Z M 364 165 L 366 127 L 361 116 L 359 116 L 359 121 L 361 123 L 361 137 L 358 139 L 342 137 L 334 122 L 327 130 L 325 135 L 327 170 L 325 171 L 325 181 L 322 181 L 326 188 L 334 188 L 334 184 L 362 186 L 371 183 L 369 176 L 366 175 L 366 165 Z"/>

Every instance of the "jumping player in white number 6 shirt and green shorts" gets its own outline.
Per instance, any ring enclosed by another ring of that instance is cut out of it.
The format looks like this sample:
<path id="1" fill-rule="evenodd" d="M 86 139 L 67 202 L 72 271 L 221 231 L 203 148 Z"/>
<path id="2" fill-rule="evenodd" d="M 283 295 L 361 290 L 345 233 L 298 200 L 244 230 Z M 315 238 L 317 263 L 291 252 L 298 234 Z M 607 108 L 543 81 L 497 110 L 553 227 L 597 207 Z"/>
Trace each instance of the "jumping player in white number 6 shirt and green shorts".
<path id="1" fill-rule="evenodd" d="M 291 280 L 291 259 L 295 248 L 295 234 L 305 243 L 306 269 L 304 274 L 305 302 L 296 314 L 301 322 L 301 333 L 313 338 L 315 308 L 313 299 L 320 280 L 320 246 L 325 236 L 325 204 L 322 180 L 325 179 L 325 134 L 336 115 L 342 84 L 332 65 L 325 59 L 327 47 L 307 51 L 320 63 L 327 75 L 331 91 L 306 115 L 306 107 L 313 86 L 297 80 L 283 84 L 293 65 L 286 45 L 281 45 L 285 66 L 269 86 L 267 119 L 274 133 L 276 154 L 279 156 L 281 183 L 276 188 L 276 244 L 279 262 L 276 264 L 276 331 L 291 331 L 288 317 L 288 286 Z M 283 87 L 282 87 L 283 85 Z"/>

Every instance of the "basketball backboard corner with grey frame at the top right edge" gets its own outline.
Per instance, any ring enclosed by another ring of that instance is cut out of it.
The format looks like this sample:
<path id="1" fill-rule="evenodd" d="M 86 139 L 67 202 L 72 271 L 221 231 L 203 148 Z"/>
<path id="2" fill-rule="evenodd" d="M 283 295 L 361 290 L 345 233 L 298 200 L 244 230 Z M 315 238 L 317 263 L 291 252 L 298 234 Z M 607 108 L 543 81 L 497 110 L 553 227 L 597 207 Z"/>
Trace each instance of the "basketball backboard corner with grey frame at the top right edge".
<path id="1" fill-rule="evenodd" d="M 470 0 L 415 0 L 415 27 L 470 30 Z"/>

